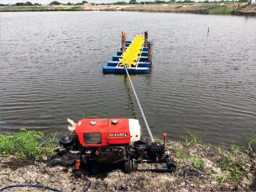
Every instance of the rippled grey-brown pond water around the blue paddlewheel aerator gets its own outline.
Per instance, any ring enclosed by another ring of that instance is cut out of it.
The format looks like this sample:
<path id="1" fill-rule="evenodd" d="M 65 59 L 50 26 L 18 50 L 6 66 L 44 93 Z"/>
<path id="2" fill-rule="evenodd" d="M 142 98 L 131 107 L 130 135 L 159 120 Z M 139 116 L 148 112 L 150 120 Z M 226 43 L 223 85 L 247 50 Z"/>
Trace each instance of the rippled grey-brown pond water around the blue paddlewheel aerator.
<path id="1" fill-rule="evenodd" d="M 208 21 L 211 19 L 210 31 Z M 255 17 L 148 12 L 1 13 L 1 134 L 67 132 L 66 118 L 138 119 L 126 74 L 104 74 L 127 40 L 148 31 L 153 62 L 131 75 L 153 135 L 230 143 L 255 132 Z"/>

